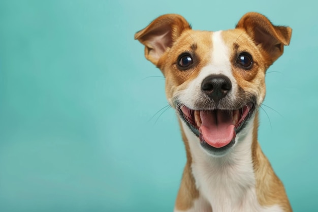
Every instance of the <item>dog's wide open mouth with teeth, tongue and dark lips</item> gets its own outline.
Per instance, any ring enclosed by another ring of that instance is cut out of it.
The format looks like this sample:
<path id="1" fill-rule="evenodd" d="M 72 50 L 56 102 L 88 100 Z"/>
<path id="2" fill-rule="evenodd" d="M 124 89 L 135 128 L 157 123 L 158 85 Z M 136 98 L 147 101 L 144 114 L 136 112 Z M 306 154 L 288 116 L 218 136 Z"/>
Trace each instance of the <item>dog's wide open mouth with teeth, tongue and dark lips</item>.
<path id="1" fill-rule="evenodd" d="M 253 103 L 235 110 L 192 110 L 181 105 L 179 111 L 193 133 L 200 138 L 201 144 L 217 151 L 234 144 L 236 134 L 251 118 L 254 108 Z"/>

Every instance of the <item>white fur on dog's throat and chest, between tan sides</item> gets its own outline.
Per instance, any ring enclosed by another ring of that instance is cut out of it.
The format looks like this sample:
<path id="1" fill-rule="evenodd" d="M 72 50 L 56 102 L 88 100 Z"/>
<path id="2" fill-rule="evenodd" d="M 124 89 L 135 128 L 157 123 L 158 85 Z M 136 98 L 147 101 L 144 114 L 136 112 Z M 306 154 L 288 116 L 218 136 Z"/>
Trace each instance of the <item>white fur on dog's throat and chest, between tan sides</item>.
<path id="1" fill-rule="evenodd" d="M 252 123 L 245 127 L 244 137 L 236 137 L 232 152 L 211 157 L 200 146 L 200 140 L 182 122 L 192 155 L 192 171 L 200 197 L 192 211 L 213 212 L 281 212 L 278 205 L 261 206 L 257 200 L 255 175 L 251 158 Z M 175 210 L 177 211 L 177 210 Z"/>

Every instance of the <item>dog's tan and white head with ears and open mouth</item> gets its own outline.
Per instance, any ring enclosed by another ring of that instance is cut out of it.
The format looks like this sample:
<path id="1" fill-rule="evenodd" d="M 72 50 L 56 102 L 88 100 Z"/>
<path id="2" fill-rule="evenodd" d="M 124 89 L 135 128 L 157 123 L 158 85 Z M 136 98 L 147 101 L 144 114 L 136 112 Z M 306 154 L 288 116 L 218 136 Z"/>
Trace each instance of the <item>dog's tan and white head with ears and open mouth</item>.
<path id="1" fill-rule="evenodd" d="M 257 13 L 219 32 L 193 31 L 181 16 L 164 15 L 135 36 L 163 72 L 170 105 L 212 155 L 228 152 L 263 102 L 266 70 L 290 37 L 289 27 Z"/>

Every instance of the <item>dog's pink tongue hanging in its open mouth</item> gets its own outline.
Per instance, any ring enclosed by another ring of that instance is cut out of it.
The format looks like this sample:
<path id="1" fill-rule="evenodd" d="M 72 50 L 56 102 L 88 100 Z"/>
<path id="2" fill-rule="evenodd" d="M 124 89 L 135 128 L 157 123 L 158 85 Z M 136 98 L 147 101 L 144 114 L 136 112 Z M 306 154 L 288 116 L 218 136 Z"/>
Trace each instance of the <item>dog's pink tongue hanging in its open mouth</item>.
<path id="1" fill-rule="evenodd" d="M 232 113 L 225 110 L 200 111 L 201 127 L 199 132 L 210 146 L 220 148 L 228 145 L 234 138 Z"/>

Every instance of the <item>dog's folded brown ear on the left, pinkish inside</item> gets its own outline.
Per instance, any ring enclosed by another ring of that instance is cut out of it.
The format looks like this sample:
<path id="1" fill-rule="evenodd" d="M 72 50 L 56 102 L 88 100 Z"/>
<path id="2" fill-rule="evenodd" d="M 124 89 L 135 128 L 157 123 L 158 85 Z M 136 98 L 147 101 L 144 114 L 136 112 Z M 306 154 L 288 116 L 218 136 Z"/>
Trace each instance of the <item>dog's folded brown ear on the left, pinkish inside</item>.
<path id="1" fill-rule="evenodd" d="M 180 15 L 167 14 L 153 20 L 146 28 L 135 34 L 145 45 L 145 57 L 157 65 L 160 57 L 180 36 L 184 29 L 190 29 L 189 23 Z"/>

